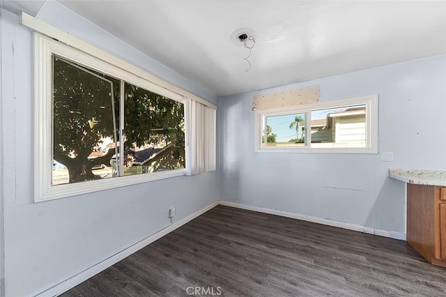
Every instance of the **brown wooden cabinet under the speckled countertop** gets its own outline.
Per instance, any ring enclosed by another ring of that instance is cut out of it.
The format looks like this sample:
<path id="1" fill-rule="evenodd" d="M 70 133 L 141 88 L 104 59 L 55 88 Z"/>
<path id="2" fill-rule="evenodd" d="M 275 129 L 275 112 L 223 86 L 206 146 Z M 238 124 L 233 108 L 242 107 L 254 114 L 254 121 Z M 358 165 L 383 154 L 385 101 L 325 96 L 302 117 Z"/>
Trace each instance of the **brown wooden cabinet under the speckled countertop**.
<path id="1" fill-rule="evenodd" d="M 446 267 L 446 188 L 407 184 L 407 241 L 431 264 Z"/>

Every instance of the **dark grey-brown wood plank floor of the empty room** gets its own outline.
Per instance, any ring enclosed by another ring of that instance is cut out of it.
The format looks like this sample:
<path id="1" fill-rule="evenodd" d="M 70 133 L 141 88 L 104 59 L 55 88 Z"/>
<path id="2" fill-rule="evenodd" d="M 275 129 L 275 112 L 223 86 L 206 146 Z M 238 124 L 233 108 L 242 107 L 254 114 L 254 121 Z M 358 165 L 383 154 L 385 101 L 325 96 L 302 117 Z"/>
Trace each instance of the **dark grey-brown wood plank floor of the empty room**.
<path id="1" fill-rule="evenodd" d="M 187 293 L 446 296 L 446 268 L 405 241 L 217 206 L 62 296 Z"/>

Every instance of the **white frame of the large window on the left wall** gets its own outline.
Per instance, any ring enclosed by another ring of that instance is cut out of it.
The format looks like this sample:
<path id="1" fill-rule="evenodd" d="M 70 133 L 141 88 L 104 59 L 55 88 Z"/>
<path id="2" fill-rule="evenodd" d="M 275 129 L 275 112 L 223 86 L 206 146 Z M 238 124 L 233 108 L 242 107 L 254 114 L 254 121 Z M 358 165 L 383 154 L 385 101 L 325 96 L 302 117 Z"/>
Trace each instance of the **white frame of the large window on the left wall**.
<path id="1" fill-rule="evenodd" d="M 65 59 L 79 63 L 88 68 L 98 70 L 106 75 L 122 79 L 143 89 L 165 96 L 171 100 L 183 103 L 185 121 L 185 158 L 190 155 L 190 98 L 170 91 L 164 86 L 151 82 L 151 75 L 135 75 L 128 70 L 118 66 L 114 61 L 104 61 L 98 56 L 87 54 L 75 47 L 63 44 L 58 40 L 48 38 L 39 33 L 34 35 L 34 201 L 48 201 L 75 195 L 82 195 L 100 190 L 120 188 L 127 185 L 157 181 L 164 178 L 184 176 L 185 169 L 174 169 L 165 172 L 151 172 L 134 176 L 118 176 L 116 178 L 105 178 L 95 181 L 83 181 L 82 183 L 67 183 L 52 185 L 52 162 L 53 162 L 53 77 L 52 77 L 52 55 L 56 54 Z M 122 62 L 117 59 L 118 62 Z M 121 116 L 123 113 L 122 100 Z M 123 121 L 123 118 L 120 118 Z M 122 133 L 120 133 L 122 135 Z M 122 136 L 120 136 L 122 137 Z M 122 141 L 122 139 L 120 139 Z M 186 166 L 189 162 L 186 162 Z"/>

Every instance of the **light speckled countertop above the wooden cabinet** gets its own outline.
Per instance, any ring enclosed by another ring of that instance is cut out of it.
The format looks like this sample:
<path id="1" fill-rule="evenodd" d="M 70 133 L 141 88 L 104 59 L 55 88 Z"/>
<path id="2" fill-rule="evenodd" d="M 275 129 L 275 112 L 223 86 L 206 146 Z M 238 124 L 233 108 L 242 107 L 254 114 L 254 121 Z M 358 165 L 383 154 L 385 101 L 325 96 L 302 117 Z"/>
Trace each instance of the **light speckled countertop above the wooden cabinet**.
<path id="1" fill-rule="evenodd" d="M 415 185 L 446 186 L 446 172 L 438 170 L 389 169 L 389 177 Z"/>

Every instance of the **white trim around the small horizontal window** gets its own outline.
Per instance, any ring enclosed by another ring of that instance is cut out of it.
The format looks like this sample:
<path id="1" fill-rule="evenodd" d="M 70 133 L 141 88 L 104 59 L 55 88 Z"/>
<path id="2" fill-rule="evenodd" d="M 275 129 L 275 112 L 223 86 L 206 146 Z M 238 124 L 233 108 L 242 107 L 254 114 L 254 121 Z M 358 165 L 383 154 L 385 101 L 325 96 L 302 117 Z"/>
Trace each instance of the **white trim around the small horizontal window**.
<path id="1" fill-rule="evenodd" d="M 311 116 L 314 109 L 329 109 L 341 106 L 366 105 L 366 146 L 364 148 L 316 148 L 310 147 L 305 139 L 305 146 L 262 147 L 262 116 L 281 116 L 284 114 L 307 113 L 305 130 L 310 131 Z M 316 102 L 308 105 L 281 107 L 256 111 L 255 115 L 255 151 L 257 153 L 378 153 L 378 95 L 364 96 L 344 100 Z"/>

